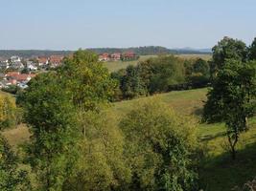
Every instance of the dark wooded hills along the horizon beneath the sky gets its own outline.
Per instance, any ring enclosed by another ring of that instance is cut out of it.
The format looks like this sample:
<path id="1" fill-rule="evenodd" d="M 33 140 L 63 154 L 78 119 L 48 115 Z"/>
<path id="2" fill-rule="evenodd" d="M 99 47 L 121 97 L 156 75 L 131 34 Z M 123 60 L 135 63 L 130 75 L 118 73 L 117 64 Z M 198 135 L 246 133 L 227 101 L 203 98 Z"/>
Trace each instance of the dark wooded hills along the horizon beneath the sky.
<path id="1" fill-rule="evenodd" d="M 209 49 L 167 49 L 159 46 L 148 46 L 148 47 L 131 47 L 131 48 L 91 48 L 87 49 L 95 53 L 124 53 L 134 52 L 138 55 L 152 55 L 152 54 L 206 54 L 211 53 Z M 73 53 L 72 51 L 51 51 L 51 50 L 0 50 L 0 57 L 11 57 L 12 55 L 18 55 L 24 58 L 35 57 L 35 56 L 50 56 L 50 55 L 68 55 Z"/>

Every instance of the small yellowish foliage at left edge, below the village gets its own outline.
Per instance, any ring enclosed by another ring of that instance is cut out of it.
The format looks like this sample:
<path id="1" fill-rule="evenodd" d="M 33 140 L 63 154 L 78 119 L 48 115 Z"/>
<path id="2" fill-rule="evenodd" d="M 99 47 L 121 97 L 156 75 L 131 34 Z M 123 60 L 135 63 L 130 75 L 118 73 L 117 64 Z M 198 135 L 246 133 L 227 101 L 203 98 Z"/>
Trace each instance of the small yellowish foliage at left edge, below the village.
<path id="1" fill-rule="evenodd" d="M 12 96 L 0 94 L 0 129 L 8 128 L 16 122 L 16 105 Z"/>

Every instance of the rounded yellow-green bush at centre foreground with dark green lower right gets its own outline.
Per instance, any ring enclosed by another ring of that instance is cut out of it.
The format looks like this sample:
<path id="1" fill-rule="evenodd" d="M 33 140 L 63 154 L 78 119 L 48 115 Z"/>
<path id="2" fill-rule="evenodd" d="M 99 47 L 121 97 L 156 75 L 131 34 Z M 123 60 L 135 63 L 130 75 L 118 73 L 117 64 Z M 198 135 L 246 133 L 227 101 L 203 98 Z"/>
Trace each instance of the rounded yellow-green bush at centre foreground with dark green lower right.
<path id="1" fill-rule="evenodd" d="M 193 120 L 175 115 L 156 97 L 133 108 L 120 123 L 133 179 L 146 190 L 195 189 L 191 154 L 198 143 Z"/>

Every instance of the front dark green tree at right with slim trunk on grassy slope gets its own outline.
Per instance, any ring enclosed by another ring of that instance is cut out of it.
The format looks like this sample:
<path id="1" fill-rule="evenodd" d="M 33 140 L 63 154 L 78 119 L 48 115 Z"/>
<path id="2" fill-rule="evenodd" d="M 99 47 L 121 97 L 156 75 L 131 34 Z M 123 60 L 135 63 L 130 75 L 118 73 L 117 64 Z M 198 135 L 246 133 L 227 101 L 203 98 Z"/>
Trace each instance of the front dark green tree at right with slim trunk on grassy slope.
<path id="1" fill-rule="evenodd" d="M 247 117 L 255 112 L 255 95 L 256 62 L 226 60 L 208 93 L 203 117 L 208 122 L 225 122 L 232 159 L 240 134 L 247 129 Z"/>

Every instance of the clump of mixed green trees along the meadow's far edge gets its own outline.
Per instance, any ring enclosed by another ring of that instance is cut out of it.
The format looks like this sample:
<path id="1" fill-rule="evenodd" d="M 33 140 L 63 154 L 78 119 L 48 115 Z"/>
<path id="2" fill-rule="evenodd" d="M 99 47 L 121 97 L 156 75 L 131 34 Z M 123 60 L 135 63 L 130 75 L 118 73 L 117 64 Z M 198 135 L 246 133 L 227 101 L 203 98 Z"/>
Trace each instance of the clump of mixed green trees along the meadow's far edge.
<path id="1" fill-rule="evenodd" d="M 203 59 L 184 60 L 161 55 L 112 73 L 119 81 L 121 97 L 130 99 L 172 90 L 205 87 L 209 83 L 209 63 Z"/>

